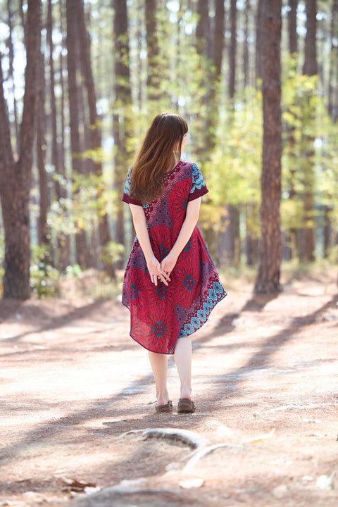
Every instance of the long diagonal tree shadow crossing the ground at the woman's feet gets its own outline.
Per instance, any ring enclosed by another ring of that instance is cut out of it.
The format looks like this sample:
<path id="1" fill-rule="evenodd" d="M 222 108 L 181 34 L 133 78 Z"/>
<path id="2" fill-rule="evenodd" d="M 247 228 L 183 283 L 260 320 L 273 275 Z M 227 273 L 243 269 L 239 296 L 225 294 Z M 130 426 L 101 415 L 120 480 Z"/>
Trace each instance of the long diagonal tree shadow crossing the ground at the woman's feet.
<path id="1" fill-rule="evenodd" d="M 266 298 L 265 304 L 270 301 L 271 299 Z M 268 369 L 270 368 L 270 358 L 275 351 L 280 349 L 282 346 L 284 346 L 296 333 L 299 332 L 299 330 L 303 327 L 307 327 L 311 325 L 312 323 L 317 320 L 318 316 L 320 316 L 321 313 L 327 311 L 329 308 L 337 308 L 338 303 L 338 294 L 335 295 L 331 301 L 328 303 L 325 303 L 322 307 L 318 308 L 316 311 L 309 315 L 304 315 L 301 317 L 296 317 L 292 320 L 292 322 L 288 325 L 288 327 L 285 327 L 280 332 L 277 332 L 276 334 L 273 334 L 273 336 L 268 337 L 265 339 L 263 344 L 261 345 L 261 348 L 253 353 L 253 355 L 246 361 L 246 364 L 243 366 L 240 366 L 239 368 L 235 368 L 229 373 L 225 373 L 225 375 L 221 375 L 218 378 L 218 383 L 220 386 L 231 388 L 231 393 L 229 393 L 229 390 L 220 389 L 218 392 L 217 400 L 214 401 L 208 396 L 208 410 L 207 414 L 211 413 L 213 411 L 213 408 L 215 405 L 217 405 L 217 409 L 220 408 L 220 399 L 223 398 L 229 398 L 234 397 L 239 392 L 239 385 L 241 384 L 242 380 L 247 376 L 248 373 L 250 373 L 253 370 L 257 369 Z M 262 304 L 262 303 L 261 303 Z M 245 308 L 246 305 L 244 305 Z M 92 305 L 89 305 L 89 307 L 92 308 Z M 75 311 L 76 315 L 76 311 Z M 226 316 L 225 316 L 226 318 Z M 225 319 L 224 318 L 224 319 Z M 229 320 L 230 321 L 230 320 Z M 204 339 L 204 342 L 208 342 L 213 337 L 219 336 L 220 334 L 224 334 L 225 332 L 229 332 L 231 329 L 227 329 L 226 325 L 221 322 L 220 325 L 215 329 L 215 332 L 211 335 L 208 335 L 206 339 Z M 227 323 L 229 325 L 229 322 Z M 199 348 L 199 344 L 196 344 L 196 348 Z M 173 368 L 173 364 L 170 365 L 170 368 Z M 293 371 L 293 370 L 291 370 Z M 245 375 L 244 375 L 245 374 Z M 182 420 L 177 416 L 176 418 L 171 417 L 159 417 L 155 411 L 154 413 L 149 413 L 148 407 L 143 406 L 141 408 L 139 405 L 135 405 L 135 398 L 134 394 L 135 392 L 139 392 L 139 387 L 146 387 L 150 386 L 154 382 L 153 375 L 151 373 L 147 373 L 146 375 L 142 375 L 137 380 L 133 380 L 127 386 L 125 386 L 123 389 L 121 389 L 119 392 L 114 394 L 113 396 L 109 396 L 105 399 L 99 399 L 95 401 L 94 403 L 90 403 L 89 406 L 86 408 L 81 408 L 80 410 L 73 411 L 69 415 L 58 418 L 57 420 L 51 420 L 47 421 L 46 423 L 43 423 L 42 425 L 38 425 L 37 427 L 33 427 L 31 430 L 28 430 L 23 434 L 23 438 L 20 439 L 20 442 L 16 442 L 15 444 L 10 444 L 7 447 L 4 447 L 2 450 L 2 456 L 3 462 L 6 463 L 8 461 L 15 461 L 17 458 L 17 454 L 22 451 L 22 449 L 25 449 L 25 452 L 27 452 L 27 449 L 34 448 L 35 446 L 41 446 L 42 441 L 48 437 L 54 437 L 53 444 L 59 446 L 61 443 L 63 443 L 65 446 L 69 445 L 69 439 L 62 440 L 61 437 L 63 434 L 68 433 L 68 428 L 74 427 L 76 425 L 83 424 L 84 422 L 88 421 L 94 421 L 96 419 L 102 420 L 102 418 L 107 419 L 116 419 L 119 422 L 123 422 L 124 426 L 132 425 L 135 423 L 135 414 L 137 415 L 137 420 L 144 421 L 145 427 L 166 427 L 170 425 L 171 427 L 180 427 Z M 213 382 L 213 378 L 211 377 L 210 383 Z M 130 396 L 130 399 L 132 399 L 132 403 L 130 404 L 130 407 L 127 408 L 121 408 L 120 406 L 120 400 L 125 399 L 128 396 Z M 203 396 L 203 393 L 201 393 L 201 396 Z M 42 408 L 41 404 L 39 408 Z M 50 408 L 50 407 L 49 407 Z M 143 411 L 143 413 L 142 413 Z M 195 424 L 199 422 L 200 417 L 204 417 L 205 414 L 198 414 L 196 413 L 192 415 L 191 418 L 189 418 L 190 427 L 194 427 Z M 208 415 L 207 415 L 208 416 Z M 184 419 L 185 420 L 185 419 Z M 110 432 L 111 434 L 112 428 L 114 427 L 113 423 L 106 424 L 106 431 Z M 118 425 L 115 425 L 116 429 L 118 429 Z M 101 431 L 101 430 L 100 430 Z M 104 430 L 102 430 L 104 432 Z M 117 433 L 118 434 L 118 433 Z M 61 442 L 62 440 L 62 442 Z M 75 442 L 76 443 L 76 442 Z"/>

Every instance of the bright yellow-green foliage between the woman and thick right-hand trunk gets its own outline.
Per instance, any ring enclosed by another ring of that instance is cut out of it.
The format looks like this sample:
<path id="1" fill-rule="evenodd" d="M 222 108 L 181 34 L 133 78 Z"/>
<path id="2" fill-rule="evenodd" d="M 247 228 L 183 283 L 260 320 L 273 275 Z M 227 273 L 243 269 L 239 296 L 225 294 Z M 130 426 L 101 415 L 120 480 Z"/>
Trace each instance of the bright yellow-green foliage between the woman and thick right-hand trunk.
<path id="1" fill-rule="evenodd" d="M 246 101 L 238 97 L 220 117 L 215 150 L 204 168 L 211 194 L 202 213 L 214 230 L 223 223 L 226 206 L 257 207 L 260 203 L 261 93 L 251 90 Z"/>

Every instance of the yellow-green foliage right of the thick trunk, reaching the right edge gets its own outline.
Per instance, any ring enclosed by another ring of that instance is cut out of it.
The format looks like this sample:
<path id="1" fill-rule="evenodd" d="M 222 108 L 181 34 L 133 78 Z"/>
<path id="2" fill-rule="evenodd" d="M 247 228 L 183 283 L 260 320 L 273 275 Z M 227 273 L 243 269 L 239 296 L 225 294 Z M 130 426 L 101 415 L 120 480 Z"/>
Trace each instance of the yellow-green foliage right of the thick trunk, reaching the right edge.
<path id="1" fill-rule="evenodd" d="M 324 206 L 337 209 L 338 126 L 326 112 L 318 77 L 296 73 L 294 61 L 283 82 L 282 224 L 285 229 L 315 227 Z M 313 189 L 315 209 L 304 214 L 303 199 Z M 337 224 L 337 215 L 330 218 Z"/>

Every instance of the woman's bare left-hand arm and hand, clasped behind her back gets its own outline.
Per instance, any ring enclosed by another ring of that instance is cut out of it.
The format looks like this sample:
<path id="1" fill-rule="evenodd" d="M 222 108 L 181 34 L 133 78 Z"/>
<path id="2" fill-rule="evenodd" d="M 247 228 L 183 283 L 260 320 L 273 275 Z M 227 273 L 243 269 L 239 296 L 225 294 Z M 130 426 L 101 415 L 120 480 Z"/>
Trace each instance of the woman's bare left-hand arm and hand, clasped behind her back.
<path id="1" fill-rule="evenodd" d="M 146 258 L 146 265 L 149 270 L 151 282 L 157 285 L 157 280 L 159 279 L 165 285 L 168 285 L 167 280 L 170 282 L 170 277 L 161 269 L 161 264 L 154 256 L 153 249 L 151 248 L 144 209 L 142 206 L 137 206 L 136 204 L 130 204 L 129 206 L 132 212 L 132 221 L 134 223 L 137 239 L 139 240 L 144 257 Z"/>

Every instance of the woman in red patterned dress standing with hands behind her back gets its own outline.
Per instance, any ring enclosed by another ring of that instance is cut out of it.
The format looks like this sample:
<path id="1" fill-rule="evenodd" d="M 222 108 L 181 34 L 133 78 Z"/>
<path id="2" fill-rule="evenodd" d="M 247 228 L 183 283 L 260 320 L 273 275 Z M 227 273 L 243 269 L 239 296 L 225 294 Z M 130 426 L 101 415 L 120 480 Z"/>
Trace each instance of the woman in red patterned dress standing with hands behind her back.
<path id="1" fill-rule="evenodd" d="M 180 375 L 177 412 L 195 411 L 190 336 L 226 296 L 196 227 L 201 197 L 208 189 L 197 165 L 180 160 L 187 132 L 180 115 L 157 115 L 123 194 L 137 237 L 125 270 L 122 301 L 130 309 L 130 336 L 149 351 L 158 413 L 173 410 L 167 389 L 168 354 L 174 354 Z"/>

